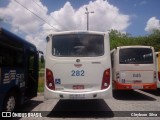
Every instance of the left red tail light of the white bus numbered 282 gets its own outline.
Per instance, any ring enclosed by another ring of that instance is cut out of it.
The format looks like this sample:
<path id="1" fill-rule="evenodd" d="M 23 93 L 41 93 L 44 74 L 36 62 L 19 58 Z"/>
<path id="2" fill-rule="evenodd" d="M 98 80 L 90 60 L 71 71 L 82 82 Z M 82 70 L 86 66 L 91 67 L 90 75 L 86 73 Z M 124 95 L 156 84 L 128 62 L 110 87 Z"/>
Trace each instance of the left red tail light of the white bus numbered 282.
<path id="1" fill-rule="evenodd" d="M 49 89 L 55 90 L 54 76 L 51 70 L 46 69 L 46 85 Z"/>

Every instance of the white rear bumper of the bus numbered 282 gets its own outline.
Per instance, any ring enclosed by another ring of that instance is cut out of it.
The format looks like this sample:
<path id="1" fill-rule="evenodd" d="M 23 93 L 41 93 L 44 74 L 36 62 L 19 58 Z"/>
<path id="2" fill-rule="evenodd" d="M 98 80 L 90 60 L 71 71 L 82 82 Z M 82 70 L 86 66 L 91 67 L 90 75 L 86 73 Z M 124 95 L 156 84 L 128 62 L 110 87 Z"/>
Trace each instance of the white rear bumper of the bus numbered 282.
<path id="1" fill-rule="evenodd" d="M 105 99 L 112 97 L 112 87 L 105 90 L 93 91 L 93 92 L 82 92 L 82 93 L 70 93 L 70 92 L 60 92 L 51 91 L 45 88 L 44 98 L 47 99 Z"/>

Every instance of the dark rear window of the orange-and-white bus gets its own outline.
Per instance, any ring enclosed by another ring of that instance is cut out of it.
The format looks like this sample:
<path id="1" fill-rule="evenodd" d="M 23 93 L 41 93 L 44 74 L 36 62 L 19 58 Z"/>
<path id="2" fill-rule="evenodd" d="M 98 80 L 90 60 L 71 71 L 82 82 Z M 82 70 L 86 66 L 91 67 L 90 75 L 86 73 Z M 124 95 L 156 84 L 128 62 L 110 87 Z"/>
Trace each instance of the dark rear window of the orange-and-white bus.
<path id="1" fill-rule="evenodd" d="M 119 51 L 120 64 L 153 64 L 150 48 L 124 48 Z"/>

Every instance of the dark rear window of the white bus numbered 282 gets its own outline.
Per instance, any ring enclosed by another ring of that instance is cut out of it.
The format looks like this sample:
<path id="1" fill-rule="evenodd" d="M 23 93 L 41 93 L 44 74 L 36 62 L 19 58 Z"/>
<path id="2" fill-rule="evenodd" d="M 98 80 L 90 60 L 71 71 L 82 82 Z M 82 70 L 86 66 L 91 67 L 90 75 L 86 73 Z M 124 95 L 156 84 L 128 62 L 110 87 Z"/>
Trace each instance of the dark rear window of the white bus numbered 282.
<path id="1" fill-rule="evenodd" d="M 52 55 L 57 57 L 96 57 L 104 54 L 104 36 L 66 34 L 52 38 Z"/>

